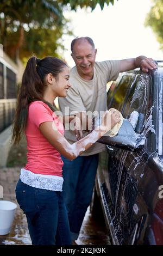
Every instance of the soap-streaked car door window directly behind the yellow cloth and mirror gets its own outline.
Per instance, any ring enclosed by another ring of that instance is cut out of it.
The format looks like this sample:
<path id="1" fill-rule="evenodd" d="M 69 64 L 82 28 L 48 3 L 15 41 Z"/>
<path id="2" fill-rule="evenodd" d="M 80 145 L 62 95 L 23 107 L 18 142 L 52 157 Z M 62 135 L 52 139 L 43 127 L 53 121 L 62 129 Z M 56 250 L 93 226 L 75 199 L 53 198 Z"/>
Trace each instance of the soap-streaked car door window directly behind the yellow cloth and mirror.
<path id="1" fill-rule="evenodd" d="M 137 75 L 133 87 L 130 90 L 130 93 L 122 109 L 123 118 L 126 119 L 129 119 L 131 113 L 133 113 L 134 111 L 139 113 L 139 117 L 135 125 L 135 132 L 137 133 L 142 132 L 143 123 L 145 120 L 148 83 L 149 81 L 145 76 Z"/>

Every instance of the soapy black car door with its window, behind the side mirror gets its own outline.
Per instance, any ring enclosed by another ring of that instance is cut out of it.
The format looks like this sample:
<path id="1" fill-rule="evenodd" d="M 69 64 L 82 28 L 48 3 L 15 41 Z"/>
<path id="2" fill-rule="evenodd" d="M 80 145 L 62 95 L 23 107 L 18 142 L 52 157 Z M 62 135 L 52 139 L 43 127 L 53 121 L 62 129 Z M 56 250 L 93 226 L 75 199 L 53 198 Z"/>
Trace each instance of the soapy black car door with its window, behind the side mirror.
<path id="1" fill-rule="evenodd" d="M 122 109 L 123 117 L 126 119 L 129 119 L 134 111 L 139 114 L 135 124 L 135 132 L 140 135 L 144 134 L 144 136 L 146 136 L 148 118 L 152 112 L 152 109 L 149 107 L 150 83 L 149 76 L 137 74 L 133 90 L 129 93 Z M 145 216 L 148 211 L 144 209 L 146 208 L 146 203 L 143 203 L 138 187 L 139 180 L 144 175 L 148 158 L 146 144 L 139 151 L 120 149 L 115 157 L 120 160 L 120 167 L 118 169 L 121 174 L 116 193 L 117 217 L 121 223 L 120 228 L 123 233 L 123 242 L 131 243 L 139 217 L 140 222 L 145 222 L 145 217 L 142 220 L 141 216 Z"/>

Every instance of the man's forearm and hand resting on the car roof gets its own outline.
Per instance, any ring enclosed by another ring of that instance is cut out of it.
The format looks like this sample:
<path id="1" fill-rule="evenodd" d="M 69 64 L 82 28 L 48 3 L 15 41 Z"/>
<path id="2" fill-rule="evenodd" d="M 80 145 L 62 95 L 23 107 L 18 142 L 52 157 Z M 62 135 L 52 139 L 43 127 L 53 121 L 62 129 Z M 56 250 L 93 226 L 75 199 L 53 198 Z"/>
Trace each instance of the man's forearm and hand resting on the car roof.
<path id="1" fill-rule="evenodd" d="M 133 59 L 122 59 L 120 62 L 120 72 L 141 68 L 143 72 L 156 69 L 157 66 L 153 59 L 139 56 Z"/>

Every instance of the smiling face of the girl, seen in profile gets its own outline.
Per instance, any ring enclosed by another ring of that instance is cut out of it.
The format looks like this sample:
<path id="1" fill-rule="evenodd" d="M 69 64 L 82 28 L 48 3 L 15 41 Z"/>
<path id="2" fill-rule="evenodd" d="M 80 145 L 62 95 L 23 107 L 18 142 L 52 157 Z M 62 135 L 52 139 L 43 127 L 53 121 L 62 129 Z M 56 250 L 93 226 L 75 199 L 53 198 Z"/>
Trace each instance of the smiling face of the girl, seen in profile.
<path id="1" fill-rule="evenodd" d="M 53 84 L 52 84 L 52 90 L 55 94 L 55 96 L 58 97 L 66 97 L 67 91 L 71 87 L 69 84 L 69 70 L 65 66 L 65 68 L 62 70 L 62 72 L 59 73 L 58 78 L 52 78 Z"/>

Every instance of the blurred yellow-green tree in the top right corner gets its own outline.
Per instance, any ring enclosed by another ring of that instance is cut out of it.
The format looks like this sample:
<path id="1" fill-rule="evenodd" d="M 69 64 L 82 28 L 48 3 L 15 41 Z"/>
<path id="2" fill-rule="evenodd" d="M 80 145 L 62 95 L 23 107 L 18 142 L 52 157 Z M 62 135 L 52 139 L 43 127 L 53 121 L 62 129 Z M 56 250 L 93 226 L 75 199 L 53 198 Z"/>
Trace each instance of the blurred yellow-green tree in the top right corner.
<path id="1" fill-rule="evenodd" d="M 163 0 L 153 0 L 153 6 L 147 14 L 145 26 L 152 28 L 163 50 Z"/>

